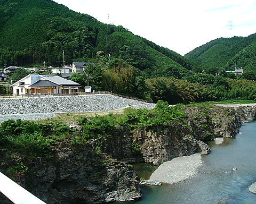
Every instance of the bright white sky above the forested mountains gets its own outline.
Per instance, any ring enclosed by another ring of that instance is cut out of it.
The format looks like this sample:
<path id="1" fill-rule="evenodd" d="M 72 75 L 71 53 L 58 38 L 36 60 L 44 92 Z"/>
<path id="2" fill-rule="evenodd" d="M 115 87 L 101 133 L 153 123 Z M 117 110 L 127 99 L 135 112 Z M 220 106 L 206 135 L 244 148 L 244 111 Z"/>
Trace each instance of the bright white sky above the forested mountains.
<path id="1" fill-rule="evenodd" d="M 54 0 L 180 55 L 211 40 L 256 32 L 256 0 Z M 109 17 L 108 17 L 109 16 Z"/>

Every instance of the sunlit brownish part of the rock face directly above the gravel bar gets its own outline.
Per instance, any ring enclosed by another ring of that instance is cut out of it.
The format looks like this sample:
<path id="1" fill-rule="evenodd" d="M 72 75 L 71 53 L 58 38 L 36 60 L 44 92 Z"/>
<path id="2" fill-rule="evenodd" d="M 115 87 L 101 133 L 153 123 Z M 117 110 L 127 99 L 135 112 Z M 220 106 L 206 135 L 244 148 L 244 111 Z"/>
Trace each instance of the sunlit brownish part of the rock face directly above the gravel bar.
<path id="1" fill-rule="evenodd" d="M 175 125 L 172 129 L 159 128 L 156 132 L 138 130 L 135 140 L 138 141 L 145 162 L 159 165 L 175 157 L 201 152 L 198 141 L 186 133 L 187 130 L 182 129 L 181 125 Z"/>

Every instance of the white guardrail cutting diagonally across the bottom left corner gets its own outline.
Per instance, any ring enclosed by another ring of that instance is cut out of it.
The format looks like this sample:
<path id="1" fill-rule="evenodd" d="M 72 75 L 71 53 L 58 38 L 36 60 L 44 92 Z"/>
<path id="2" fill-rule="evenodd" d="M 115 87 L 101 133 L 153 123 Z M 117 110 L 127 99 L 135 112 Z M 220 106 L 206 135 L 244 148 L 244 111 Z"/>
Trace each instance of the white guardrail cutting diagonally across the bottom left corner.
<path id="1" fill-rule="evenodd" d="M 0 191 L 14 204 L 46 204 L 1 172 Z"/>

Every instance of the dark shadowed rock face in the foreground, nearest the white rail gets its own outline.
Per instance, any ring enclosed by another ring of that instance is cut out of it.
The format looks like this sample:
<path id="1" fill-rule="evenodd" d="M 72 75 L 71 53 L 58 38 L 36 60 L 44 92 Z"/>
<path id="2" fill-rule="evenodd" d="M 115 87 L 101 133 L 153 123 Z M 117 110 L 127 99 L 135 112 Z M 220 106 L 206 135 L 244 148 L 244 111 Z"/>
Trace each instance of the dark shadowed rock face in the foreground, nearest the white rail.
<path id="1" fill-rule="evenodd" d="M 11 162 L 19 163 L 22 156 L 15 158 Z M 0 163 L 4 161 L 2 154 Z M 97 155 L 90 148 L 61 148 L 50 160 L 35 158 L 30 162 L 22 158 L 22 161 L 30 171 L 19 172 L 12 179 L 47 204 L 129 201 L 141 197 L 140 179 L 132 167 Z M 6 199 L 0 201 L 10 203 Z"/>

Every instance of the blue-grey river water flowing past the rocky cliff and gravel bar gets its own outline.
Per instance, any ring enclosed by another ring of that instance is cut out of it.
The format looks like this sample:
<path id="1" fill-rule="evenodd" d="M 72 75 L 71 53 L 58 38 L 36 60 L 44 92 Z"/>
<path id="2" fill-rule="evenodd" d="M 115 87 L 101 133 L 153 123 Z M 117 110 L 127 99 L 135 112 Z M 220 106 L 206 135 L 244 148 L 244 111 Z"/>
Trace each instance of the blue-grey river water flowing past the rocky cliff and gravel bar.
<path id="1" fill-rule="evenodd" d="M 221 145 L 211 141 L 209 146 L 211 154 L 202 156 L 203 166 L 194 178 L 177 184 L 143 186 L 142 199 L 132 203 L 256 203 L 256 194 L 248 191 L 248 186 L 256 182 L 256 122 L 243 124 L 235 138 L 224 138 Z M 144 167 L 138 173 L 147 179 Z M 234 167 L 236 171 L 232 171 Z"/>

